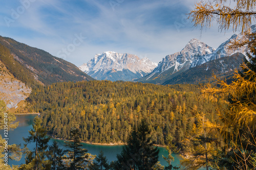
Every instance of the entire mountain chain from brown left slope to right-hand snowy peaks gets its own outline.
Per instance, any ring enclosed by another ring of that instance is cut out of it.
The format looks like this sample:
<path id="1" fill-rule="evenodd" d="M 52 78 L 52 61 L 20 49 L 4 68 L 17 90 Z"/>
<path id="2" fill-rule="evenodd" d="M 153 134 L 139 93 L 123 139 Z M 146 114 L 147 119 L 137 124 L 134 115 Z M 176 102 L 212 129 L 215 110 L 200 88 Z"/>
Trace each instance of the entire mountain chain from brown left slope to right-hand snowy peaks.
<path id="1" fill-rule="evenodd" d="M 251 31 L 256 32 L 255 25 Z M 230 52 L 228 46 L 242 38 L 242 34 L 234 34 L 216 50 L 198 39 L 191 39 L 180 52 L 167 55 L 159 64 L 132 54 L 103 52 L 78 68 L 43 50 L 0 36 L 0 98 L 12 108 L 39 84 L 93 78 L 162 85 L 205 82 L 212 73 L 228 78 L 239 68 L 246 50 L 242 47 Z"/>

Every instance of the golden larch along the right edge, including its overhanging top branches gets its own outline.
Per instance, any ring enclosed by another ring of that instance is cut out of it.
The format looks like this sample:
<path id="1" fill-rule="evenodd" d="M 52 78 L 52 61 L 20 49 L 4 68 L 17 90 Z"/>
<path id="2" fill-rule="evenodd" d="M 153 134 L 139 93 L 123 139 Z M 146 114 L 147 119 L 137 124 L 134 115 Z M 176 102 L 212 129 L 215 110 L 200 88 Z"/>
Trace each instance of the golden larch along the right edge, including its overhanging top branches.
<path id="1" fill-rule="evenodd" d="M 255 7 L 255 0 L 201 1 L 189 14 L 195 27 L 210 28 L 217 22 L 221 31 L 242 31 L 244 38 L 233 41 L 231 51 L 247 46 L 247 60 L 234 72 L 232 83 L 215 77 L 215 84 L 202 90 L 207 98 L 226 101 L 217 109 L 221 123 L 214 126 L 224 142 L 219 154 L 212 155 L 215 169 L 256 168 L 256 32 L 250 30 L 256 19 Z"/>

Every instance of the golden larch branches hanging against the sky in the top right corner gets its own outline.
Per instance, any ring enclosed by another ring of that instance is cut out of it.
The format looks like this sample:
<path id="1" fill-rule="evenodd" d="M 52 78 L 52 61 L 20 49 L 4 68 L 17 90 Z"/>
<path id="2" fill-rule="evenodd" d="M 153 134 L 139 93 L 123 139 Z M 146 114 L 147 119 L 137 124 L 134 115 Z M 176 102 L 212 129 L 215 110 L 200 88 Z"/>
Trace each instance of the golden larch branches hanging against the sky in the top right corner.
<path id="1" fill-rule="evenodd" d="M 210 28 L 217 22 L 221 31 L 242 31 L 245 37 L 234 40 L 229 46 L 232 50 L 244 45 L 255 46 L 256 32 L 250 32 L 250 27 L 256 19 L 255 7 L 255 0 L 201 1 L 189 13 L 189 18 L 192 18 L 195 27 Z"/>

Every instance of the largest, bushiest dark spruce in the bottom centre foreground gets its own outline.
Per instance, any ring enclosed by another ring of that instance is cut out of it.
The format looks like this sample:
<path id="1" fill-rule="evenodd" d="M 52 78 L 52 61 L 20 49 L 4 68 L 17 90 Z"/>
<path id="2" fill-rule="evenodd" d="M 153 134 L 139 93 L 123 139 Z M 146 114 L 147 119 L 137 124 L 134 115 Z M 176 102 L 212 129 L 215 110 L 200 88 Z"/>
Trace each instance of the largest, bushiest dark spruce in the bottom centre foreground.
<path id="1" fill-rule="evenodd" d="M 129 135 L 121 154 L 117 155 L 115 168 L 151 170 L 158 162 L 158 154 L 159 149 L 153 145 L 150 126 L 142 119 L 138 129 L 134 127 Z"/>

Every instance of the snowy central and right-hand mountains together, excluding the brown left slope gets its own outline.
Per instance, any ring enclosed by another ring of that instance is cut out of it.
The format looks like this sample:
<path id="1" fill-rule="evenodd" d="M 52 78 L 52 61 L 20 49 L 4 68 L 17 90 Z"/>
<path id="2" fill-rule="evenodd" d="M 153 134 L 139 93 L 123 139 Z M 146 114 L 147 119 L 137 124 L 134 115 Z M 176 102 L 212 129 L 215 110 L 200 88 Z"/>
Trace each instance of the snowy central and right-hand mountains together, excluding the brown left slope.
<path id="1" fill-rule="evenodd" d="M 251 26 L 251 31 L 256 31 L 256 25 Z M 198 83 L 198 81 L 204 81 L 202 77 L 183 77 L 184 80 L 182 80 L 181 75 L 187 75 L 189 73 L 188 75 L 191 76 L 190 69 L 194 67 L 196 68 L 193 69 L 193 71 L 202 71 L 201 67 L 198 66 L 204 63 L 217 64 L 218 67 L 212 65 L 205 74 L 203 74 L 203 72 L 200 73 L 202 75 L 209 75 L 209 72 L 211 72 L 211 74 L 221 74 L 226 68 L 228 68 L 229 71 L 231 71 L 230 69 L 239 68 L 242 62 L 240 59 L 244 57 L 246 47 L 237 48 L 236 51 L 230 51 L 228 47 L 232 41 L 237 41 L 242 38 L 244 38 L 242 33 L 238 35 L 234 34 L 217 49 L 194 38 L 191 39 L 180 52 L 165 56 L 158 64 L 151 62 L 147 58 L 139 59 L 136 55 L 104 52 L 95 55 L 88 63 L 79 66 L 79 69 L 97 80 L 138 81 L 154 84 L 174 84 L 173 82 Z M 232 60 L 232 58 L 218 59 L 232 56 L 236 53 L 238 53 L 237 56 L 239 57 L 232 61 L 232 63 L 236 65 L 228 67 L 227 65 L 221 65 L 219 63 L 219 61 L 226 63 L 226 60 Z M 217 61 L 210 62 L 214 60 Z M 197 68 L 199 70 L 197 70 Z"/>

